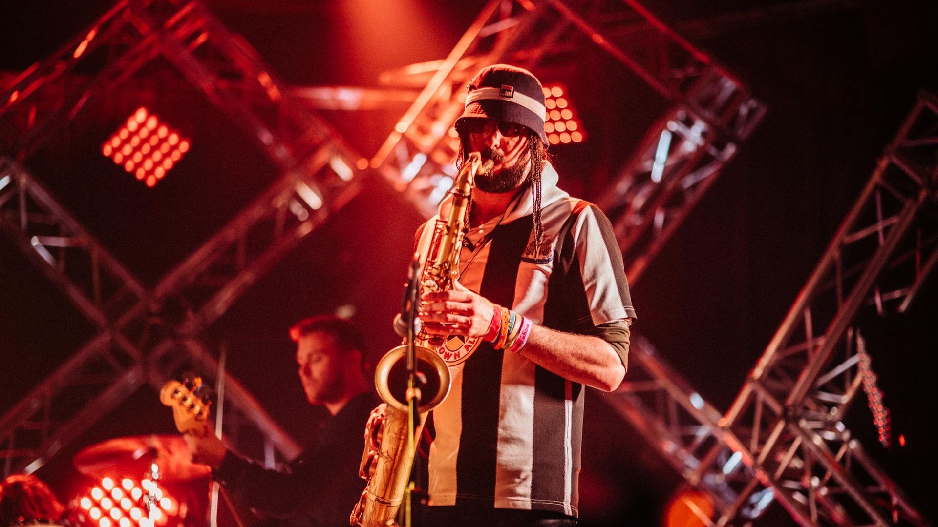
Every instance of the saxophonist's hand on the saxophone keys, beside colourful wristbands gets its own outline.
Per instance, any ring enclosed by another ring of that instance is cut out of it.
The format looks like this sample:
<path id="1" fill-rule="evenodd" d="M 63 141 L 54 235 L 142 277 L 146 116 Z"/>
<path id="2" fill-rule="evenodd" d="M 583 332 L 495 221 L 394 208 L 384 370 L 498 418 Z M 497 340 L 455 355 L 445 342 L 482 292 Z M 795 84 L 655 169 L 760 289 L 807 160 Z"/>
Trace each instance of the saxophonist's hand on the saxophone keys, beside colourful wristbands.
<path id="1" fill-rule="evenodd" d="M 454 282 L 455 289 L 420 297 L 420 322 L 431 335 L 484 337 L 489 332 L 495 305 L 481 294 Z"/>

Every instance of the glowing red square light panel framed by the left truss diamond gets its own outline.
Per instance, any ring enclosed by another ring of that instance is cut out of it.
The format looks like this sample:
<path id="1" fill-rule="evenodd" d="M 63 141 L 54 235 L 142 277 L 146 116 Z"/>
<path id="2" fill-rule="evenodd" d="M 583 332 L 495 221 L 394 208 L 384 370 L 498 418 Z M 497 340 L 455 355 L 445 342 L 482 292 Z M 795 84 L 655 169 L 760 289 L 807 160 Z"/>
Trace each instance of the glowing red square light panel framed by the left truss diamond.
<path id="1" fill-rule="evenodd" d="M 189 140 L 143 107 L 101 145 L 101 154 L 122 165 L 147 187 L 156 185 L 188 151 Z"/>

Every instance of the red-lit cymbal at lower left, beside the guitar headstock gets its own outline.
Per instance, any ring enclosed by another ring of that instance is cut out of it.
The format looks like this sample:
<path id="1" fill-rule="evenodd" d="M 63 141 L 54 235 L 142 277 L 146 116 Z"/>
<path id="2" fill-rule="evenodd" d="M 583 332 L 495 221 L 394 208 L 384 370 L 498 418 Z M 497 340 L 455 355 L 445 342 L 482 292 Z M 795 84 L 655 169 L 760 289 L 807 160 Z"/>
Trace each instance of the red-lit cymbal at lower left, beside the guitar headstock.
<path id="1" fill-rule="evenodd" d="M 211 469 L 189 460 L 189 447 L 179 435 L 118 437 L 83 448 L 72 460 L 78 472 L 93 478 L 143 479 L 151 463 L 161 481 L 189 481 L 207 477 Z"/>

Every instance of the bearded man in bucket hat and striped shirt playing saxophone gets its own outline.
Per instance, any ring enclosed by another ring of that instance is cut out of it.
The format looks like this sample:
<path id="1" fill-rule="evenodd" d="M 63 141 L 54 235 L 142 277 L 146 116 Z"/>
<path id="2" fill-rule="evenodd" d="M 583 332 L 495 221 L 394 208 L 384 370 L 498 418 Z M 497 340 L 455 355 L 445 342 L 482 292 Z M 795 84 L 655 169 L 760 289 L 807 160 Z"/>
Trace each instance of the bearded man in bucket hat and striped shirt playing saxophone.
<path id="1" fill-rule="evenodd" d="M 598 207 L 557 187 L 537 78 L 496 65 L 468 89 L 457 165 L 494 166 L 476 176 L 454 287 L 420 299 L 452 386 L 427 419 L 421 524 L 575 525 L 584 387 L 613 391 L 628 364 L 622 255 Z"/>

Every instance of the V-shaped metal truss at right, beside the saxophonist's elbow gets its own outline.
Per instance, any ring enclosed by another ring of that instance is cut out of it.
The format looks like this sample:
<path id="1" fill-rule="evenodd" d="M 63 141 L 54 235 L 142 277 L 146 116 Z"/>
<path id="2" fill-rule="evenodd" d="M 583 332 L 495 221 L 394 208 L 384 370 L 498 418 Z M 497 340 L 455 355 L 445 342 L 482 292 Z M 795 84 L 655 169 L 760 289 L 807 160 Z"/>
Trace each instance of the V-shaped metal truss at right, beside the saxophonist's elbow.
<path id="1" fill-rule="evenodd" d="M 908 309 L 938 259 L 924 214 L 936 145 L 938 98 L 923 93 L 726 415 L 636 336 L 642 367 L 604 400 L 710 494 L 710 524 L 758 519 L 774 500 L 801 525 L 928 524 L 842 418 L 862 382 L 856 314 Z"/>

